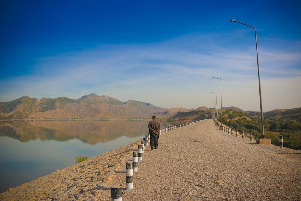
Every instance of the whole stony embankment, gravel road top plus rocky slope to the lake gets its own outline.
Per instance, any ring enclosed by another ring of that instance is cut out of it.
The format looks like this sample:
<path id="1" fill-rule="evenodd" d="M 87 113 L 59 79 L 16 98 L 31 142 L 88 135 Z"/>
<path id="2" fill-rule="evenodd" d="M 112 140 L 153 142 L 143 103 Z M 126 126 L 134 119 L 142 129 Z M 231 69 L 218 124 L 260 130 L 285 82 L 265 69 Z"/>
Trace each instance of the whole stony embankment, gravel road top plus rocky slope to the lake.
<path id="1" fill-rule="evenodd" d="M 125 163 L 140 140 L 0 194 L 0 200 L 301 200 L 301 151 L 231 136 L 210 120 L 160 135 L 147 146 L 133 189 Z"/>

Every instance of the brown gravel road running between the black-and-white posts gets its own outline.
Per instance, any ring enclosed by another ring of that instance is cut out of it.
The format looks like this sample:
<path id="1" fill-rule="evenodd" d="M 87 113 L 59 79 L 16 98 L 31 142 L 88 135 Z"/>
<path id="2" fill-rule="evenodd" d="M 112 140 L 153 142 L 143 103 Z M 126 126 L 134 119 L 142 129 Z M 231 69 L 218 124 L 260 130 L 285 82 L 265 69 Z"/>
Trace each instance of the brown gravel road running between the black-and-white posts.
<path id="1" fill-rule="evenodd" d="M 122 199 L 301 200 L 300 162 L 301 151 L 242 140 L 205 120 L 148 146 Z"/>

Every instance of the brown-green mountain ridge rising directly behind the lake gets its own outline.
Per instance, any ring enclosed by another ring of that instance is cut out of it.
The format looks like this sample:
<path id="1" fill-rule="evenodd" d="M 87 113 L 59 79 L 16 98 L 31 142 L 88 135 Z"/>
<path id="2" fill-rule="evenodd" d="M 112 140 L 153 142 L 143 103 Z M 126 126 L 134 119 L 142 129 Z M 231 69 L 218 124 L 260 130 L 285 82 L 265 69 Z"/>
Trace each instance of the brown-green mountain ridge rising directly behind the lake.
<path id="1" fill-rule="evenodd" d="M 187 109 L 186 109 L 187 110 Z M 150 103 L 129 100 L 119 101 L 95 93 L 79 99 L 66 97 L 30 98 L 0 102 L 0 119 L 132 119 L 162 117 L 160 113 L 174 115 L 176 109 L 154 106 Z"/>

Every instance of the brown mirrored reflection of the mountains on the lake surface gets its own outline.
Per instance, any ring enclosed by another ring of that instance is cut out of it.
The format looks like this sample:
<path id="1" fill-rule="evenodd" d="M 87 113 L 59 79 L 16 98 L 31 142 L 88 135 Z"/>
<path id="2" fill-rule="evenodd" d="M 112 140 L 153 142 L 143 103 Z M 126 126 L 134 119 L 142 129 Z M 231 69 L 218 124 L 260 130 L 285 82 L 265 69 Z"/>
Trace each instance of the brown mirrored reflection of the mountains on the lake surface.
<path id="1" fill-rule="evenodd" d="M 21 142 L 37 139 L 63 142 L 76 138 L 84 143 L 97 144 L 123 135 L 137 137 L 148 131 L 147 125 L 148 121 L 138 120 L 0 121 L 0 136 Z"/>

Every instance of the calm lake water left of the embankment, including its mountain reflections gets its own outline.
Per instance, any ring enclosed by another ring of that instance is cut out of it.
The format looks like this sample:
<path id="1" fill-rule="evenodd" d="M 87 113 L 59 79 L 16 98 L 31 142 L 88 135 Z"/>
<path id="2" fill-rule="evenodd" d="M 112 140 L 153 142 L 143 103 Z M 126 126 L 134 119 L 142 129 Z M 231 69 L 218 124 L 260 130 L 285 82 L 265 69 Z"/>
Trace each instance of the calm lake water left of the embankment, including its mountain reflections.
<path id="1" fill-rule="evenodd" d="M 161 127 L 171 124 L 161 123 Z M 145 137 L 148 121 L 0 121 L 0 193 Z"/>

